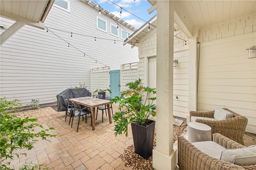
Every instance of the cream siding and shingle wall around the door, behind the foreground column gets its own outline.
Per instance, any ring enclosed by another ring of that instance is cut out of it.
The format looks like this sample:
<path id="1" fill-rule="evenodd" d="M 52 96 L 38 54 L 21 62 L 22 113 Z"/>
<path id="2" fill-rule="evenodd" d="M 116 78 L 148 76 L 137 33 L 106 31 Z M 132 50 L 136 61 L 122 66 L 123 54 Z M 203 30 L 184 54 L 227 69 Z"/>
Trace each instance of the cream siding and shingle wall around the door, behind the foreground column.
<path id="1" fill-rule="evenodd" d="M 178 33 L 177 37 L 187 40 L 183 32 Z M 139 44 L 139 78 L 142 79 L 144 86 L 148 86 L 148 57 L 151 56 L 156 56 L 156 30 L 149 32 Z M 173 68 L 173 115 L 186 117 L 188 114 L 188 47 L 185 47 L 184 41 L 176 37 L 174 37 L 174 59 L 178 59 L 178 65 Z"/>

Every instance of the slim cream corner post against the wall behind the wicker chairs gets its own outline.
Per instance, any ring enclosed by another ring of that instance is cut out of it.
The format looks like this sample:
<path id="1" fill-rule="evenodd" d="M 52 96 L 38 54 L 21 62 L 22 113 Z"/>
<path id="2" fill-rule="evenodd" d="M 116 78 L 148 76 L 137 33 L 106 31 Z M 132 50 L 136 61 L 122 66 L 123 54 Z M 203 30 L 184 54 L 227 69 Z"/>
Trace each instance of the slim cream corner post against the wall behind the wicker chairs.
<path id="1" fill-rule="evenodd" d="M 188 39 L 188 110 L 196 111 L 197 108 L 197 36 Z M 187 122 L 189 122 L 189 113 Z"/>

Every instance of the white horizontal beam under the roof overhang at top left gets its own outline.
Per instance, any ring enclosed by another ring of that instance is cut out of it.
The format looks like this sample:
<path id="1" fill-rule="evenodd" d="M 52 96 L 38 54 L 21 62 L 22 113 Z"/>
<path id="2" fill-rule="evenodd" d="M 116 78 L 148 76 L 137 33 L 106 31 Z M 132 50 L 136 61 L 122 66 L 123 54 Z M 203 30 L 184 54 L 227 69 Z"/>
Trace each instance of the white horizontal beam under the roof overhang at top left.
<path id="1" fill-rule="evenodd" d="M 4 18 L 7 18 L 7 19 L 10 19 L 10 20 L 13 20 L 13 21 L 21 21 L 21 22 L 25 22 L 27 25 L 30 25 L 32 27 L 36 27 L 36 28 L 39 28 L 39 29 L 42 29 L 44 30 L 45 27 L 44 27 L 44 23 L 42 22 L 35 22 L 35 21 L 32 21 L 32 20 L 28 20 L 26 18 L 23 18 L 19 15 L 15 15 L 15 14 L 12 14 L 12 13 L 9 13 L 9 12 L 6 12 L 6 11 L 0 11 L 0 16 L 4 17 Z"/>

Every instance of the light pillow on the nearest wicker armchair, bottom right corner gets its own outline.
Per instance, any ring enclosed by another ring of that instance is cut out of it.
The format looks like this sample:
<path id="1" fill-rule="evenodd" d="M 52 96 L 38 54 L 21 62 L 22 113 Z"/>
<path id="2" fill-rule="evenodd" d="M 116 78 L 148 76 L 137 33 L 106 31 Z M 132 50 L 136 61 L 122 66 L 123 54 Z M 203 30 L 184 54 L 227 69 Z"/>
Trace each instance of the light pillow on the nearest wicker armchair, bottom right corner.
<path id="1" fill-rule="evenodd" d="M 223 150 L 220 159 L 239 166 L 256 165 L 256 146 Z"/>

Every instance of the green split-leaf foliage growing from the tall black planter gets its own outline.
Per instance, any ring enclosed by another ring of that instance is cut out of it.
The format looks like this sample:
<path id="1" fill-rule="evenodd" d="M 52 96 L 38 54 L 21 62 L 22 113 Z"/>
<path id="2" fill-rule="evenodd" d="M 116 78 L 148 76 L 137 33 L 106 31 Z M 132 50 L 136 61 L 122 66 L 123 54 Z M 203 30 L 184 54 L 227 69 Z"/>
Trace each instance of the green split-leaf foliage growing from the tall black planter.
<path id="1" fill-rule="evenodd" d="M 111 103 L 119 103 L 118 111 L 114 114 L 115 135 L 125 133 L 128 135 L 128 125 L 137 123 L 147 125 L 148 120 L 156 116 L 156 97 L 149 97 L 156 94 L 155 89 L 143 87 L 141 80 L 127 83 L 129 90 L 123 90 L 120 96 L 116 96 Z"/>

